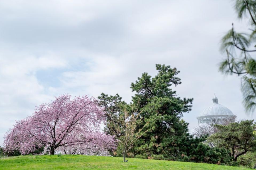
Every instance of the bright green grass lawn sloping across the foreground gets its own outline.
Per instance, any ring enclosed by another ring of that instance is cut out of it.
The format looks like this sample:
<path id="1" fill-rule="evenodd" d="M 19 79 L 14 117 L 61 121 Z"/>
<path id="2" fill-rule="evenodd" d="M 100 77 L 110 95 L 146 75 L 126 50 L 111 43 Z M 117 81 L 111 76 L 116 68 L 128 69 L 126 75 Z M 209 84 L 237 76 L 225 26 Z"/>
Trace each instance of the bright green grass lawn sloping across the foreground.
<path id="1" fill-rule="evenodd" d="M 14 156 L 0 158 L 0 169 L 246 169 L 204 163 L 189 163 L 84 155 Z"/>

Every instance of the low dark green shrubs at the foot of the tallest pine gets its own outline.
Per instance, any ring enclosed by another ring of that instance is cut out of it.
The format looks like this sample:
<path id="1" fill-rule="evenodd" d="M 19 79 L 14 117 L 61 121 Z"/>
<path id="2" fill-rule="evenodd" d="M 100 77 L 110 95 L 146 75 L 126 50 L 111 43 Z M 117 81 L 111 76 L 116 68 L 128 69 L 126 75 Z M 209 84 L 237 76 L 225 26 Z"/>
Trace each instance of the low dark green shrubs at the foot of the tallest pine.
<path id="1" fill-rule="evenodd" d="M 186 162 L 202 162 L 222 165 L 237 165 L 233 162 L 233 157 L 230 156 L 230 151 L 225 148 L 214 147 L 211 148 L 208 144 L 202 143 L 205 137 L 193 138 L 190 135 L 178 139 L 176 145 L 173 147 L 166 147 L 165 150 L 158 154 L 141 153 L 136 155 L 137 158 L 160 159 L 160 160 L 174 160 Z M 177 155 L 170 156 L 166 153 L 168 149 L 177 149 Z M 168 157 L 169 156 L 169 157 Z"/>

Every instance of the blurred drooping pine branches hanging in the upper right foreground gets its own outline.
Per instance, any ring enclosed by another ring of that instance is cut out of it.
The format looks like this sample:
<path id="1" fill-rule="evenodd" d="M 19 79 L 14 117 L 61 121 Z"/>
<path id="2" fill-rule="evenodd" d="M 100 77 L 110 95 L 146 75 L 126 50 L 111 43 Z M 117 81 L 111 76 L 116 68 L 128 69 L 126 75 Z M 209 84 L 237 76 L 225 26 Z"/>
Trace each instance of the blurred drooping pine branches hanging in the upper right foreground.
<path id="1" fill-rule="evenodd" d="M 221 51 L 225 51 L 227 58 L 219 64 L 219 71 L 225 74 L 243 75 L 242 93 L 243 104 L 247 113 L 252 113 L 256 108 L 256 60 L 251 57 L 255 49 L 249 49 L 255 43 L 256 37 L 256 1 L 255 0 L 236 0 L 235 10 L 238 18 L 248 17 L 250 19 L 250 34 L 238 33 L 232 29 L 222 38 Z M 256 47 L 256 46 L 255 46 Z M 240 51 L 240 55 L 236 54 Z"/>

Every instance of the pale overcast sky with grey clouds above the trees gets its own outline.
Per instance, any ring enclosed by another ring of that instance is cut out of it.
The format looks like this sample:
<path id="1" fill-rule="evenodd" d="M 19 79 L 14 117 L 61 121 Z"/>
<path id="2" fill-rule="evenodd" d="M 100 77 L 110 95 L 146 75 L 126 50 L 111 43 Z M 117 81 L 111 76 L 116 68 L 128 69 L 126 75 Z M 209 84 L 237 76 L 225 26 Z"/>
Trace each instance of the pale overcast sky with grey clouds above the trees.
<path id="1" fill-rule="evenodd" d="M 108 3 L 106 3 L 108 2 Z M 180 70 L 180 97 L 194 98 L 184 119 L 219 103 L 238 119 L 240 78 L 218 72 L 225 58 L 220 39 L 237 19 L 234 1 L 0 1 L 0 143 L 15 120 L 54 96 L 101 92 L 126 102 L 141 73 L 156 75 L 155 64 Z"/>

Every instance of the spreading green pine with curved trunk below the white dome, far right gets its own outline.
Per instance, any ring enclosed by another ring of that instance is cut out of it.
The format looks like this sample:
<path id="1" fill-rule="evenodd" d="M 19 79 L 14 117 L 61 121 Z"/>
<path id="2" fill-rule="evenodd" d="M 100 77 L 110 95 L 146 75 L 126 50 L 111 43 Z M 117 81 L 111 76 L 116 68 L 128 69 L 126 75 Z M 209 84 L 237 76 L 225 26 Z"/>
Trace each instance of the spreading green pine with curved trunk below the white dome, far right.
<path id="1" fill-rule="evenodd" d="M 246 152 L 256 151 L 255 129 L 253 120 L 230 123 L 226 126 L 216 124 L 218 132 L 209 137 L 217 147 L 230 149 L 234 161 Z"/>

